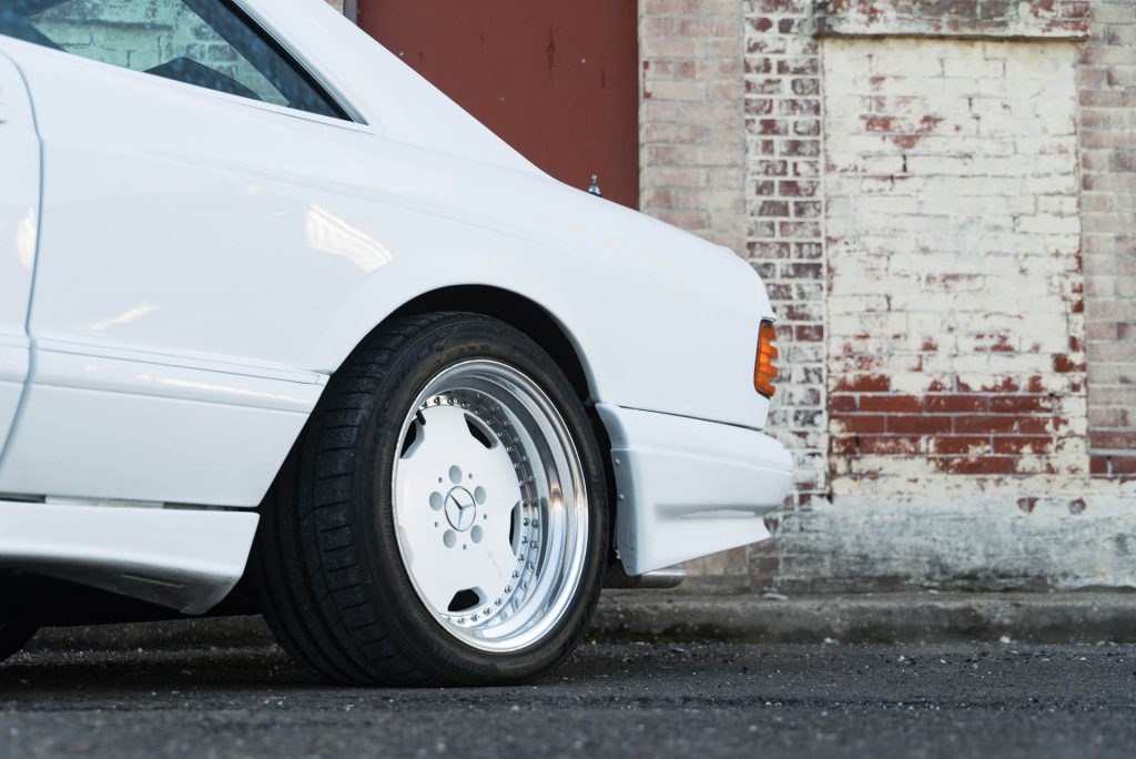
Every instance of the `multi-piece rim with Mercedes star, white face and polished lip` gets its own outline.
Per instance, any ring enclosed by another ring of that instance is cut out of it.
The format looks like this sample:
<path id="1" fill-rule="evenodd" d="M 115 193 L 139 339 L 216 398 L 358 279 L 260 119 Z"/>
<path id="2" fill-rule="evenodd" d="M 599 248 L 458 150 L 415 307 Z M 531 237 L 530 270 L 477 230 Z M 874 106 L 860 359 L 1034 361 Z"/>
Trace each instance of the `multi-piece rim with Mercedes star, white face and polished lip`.
<path id="1" fill-rule="evenodd" d="M 394 525 L 423 603 L 462 642 L 511 652 L 570 608 L 587 551 L 587 492 L 548 395 L 498 361 L 441 373 L 407 415 Z"/>

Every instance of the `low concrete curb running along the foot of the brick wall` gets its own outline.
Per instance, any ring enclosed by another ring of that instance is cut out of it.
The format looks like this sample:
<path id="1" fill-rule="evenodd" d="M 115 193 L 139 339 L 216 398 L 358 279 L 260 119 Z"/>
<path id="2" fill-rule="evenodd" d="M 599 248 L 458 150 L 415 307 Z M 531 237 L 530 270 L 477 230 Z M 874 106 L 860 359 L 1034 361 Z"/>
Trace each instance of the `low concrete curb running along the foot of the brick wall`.
<path id="1" fill-rule="evenodd" d="M 784 597 L 605 591 L 591 640 L 735 643 L 1136 642 L 1136 593 Z M 260 617 L 43 629 L 32 651 L 274 648 Z"/>

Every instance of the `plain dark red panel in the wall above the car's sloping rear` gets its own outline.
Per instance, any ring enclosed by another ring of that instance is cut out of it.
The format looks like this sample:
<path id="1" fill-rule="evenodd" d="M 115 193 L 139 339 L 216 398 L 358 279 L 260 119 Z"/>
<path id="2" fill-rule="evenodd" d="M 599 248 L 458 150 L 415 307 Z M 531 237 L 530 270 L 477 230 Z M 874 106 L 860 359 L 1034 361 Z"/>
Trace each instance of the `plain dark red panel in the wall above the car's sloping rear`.
<path id="1" fill-rule="evenodd" d="M 359 0 L 359 24 L 552 176 L 638 205 L 636 0 Z"/>

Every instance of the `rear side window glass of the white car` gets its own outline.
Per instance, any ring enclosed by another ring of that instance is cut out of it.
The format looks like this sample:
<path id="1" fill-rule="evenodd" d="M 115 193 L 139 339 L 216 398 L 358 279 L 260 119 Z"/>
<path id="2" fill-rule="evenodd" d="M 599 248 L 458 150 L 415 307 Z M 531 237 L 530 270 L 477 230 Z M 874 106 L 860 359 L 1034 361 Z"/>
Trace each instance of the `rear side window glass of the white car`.
<path id="1" fill-rule="evenodd" d="M 250 100 L 346 118 L 226 0 L 0 0 L 0 34 Z"/>

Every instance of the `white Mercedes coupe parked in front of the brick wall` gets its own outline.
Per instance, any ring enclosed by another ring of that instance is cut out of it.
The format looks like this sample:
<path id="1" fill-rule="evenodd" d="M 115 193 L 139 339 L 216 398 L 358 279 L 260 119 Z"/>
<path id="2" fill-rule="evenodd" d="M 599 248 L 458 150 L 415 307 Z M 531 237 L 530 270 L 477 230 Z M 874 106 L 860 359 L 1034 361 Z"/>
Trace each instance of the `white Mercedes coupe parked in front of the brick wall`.
<path id="1" fill-rule="evenodd" d="M 323 0 L 0 0 L 0 653 L 262 612 L 340 682 L 538 676 L 605 577 L 768 537 L 772 322 Z"/>

